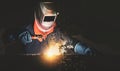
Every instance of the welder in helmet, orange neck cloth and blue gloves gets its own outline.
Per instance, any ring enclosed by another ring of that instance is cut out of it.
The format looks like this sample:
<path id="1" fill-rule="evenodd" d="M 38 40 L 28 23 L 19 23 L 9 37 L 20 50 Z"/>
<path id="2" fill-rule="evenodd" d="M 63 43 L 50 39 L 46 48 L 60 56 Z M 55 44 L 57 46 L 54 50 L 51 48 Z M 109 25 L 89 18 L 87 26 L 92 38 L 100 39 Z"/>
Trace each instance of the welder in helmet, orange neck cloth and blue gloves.
<path id="1" fill-rule="evenodd" d="M 25 47 L 25 54 L 40 54 L 50 42 L 51 36 L 53 36 L 55 42 L 59 39 L 66 40 L 63 47 L 66 46 L 65 48 L 72 49 L 76 54 L 93 55 L 93 50 L 90 47 L 81 42 L 74 43 L 72 39 L 57 30 L 56 19 L 59 13 L 56 12 L 56 6 L 54 5 L 53 2 L 40 2 L 34 10 L 34 23 L 29 24 L 21 32 L 17 33 L 16 37 Z M 70 48 L 71 45 L 72 48 Z"/>

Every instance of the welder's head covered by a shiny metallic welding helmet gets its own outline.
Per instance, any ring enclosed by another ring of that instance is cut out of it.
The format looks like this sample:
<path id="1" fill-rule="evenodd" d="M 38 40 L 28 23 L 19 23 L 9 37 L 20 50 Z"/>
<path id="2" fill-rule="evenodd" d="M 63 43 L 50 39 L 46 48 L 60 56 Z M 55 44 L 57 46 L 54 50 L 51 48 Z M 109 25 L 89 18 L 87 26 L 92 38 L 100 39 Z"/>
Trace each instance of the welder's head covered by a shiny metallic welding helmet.
<path id="1" fill-rule="evenodd" d="M 53 2 L 40 2 L 35 8 L 34 16 L 39 26 L 49 29 L 55 23 L 57 14 Z"/>

